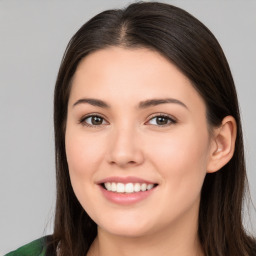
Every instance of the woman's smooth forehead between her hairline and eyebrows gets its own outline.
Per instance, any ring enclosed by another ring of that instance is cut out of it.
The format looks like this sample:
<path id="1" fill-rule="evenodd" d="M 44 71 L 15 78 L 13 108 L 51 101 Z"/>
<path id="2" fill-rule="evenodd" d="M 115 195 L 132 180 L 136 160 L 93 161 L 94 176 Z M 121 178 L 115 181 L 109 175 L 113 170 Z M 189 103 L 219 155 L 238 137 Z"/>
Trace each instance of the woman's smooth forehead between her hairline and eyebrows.
<path id="1" fill-rule="evenodd" d="M 85 57 L 75 72 L 70 100 L 79 97 L 97 97 L 113 104 L 171 97 L 204 107 L 190 80 L 174 64 L 143 48 L 110 47 Z"/>

